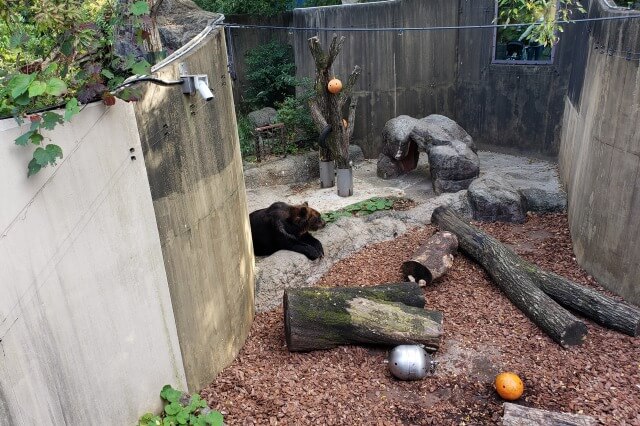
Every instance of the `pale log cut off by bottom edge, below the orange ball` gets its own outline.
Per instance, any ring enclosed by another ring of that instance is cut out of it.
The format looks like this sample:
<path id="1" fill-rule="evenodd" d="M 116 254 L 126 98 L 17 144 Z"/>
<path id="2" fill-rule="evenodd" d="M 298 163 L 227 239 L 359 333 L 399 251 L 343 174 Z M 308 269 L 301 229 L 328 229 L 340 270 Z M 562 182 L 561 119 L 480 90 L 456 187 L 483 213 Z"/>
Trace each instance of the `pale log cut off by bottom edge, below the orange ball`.
<path id="1" fill-rule="evenodd" d="M 504 403 L 502 426 L 595 426 L 598 422 L 591 416 L 559 413 L 538 408 Z"/>

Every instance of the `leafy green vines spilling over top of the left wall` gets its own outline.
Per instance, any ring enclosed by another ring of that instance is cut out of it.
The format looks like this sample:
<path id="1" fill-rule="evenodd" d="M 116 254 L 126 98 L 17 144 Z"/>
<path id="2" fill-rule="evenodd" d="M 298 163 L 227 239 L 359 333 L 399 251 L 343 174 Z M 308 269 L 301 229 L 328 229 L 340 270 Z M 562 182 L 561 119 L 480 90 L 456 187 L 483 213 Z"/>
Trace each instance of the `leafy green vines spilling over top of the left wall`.
<path id="1" fill-rule="evenodd" d="M 114 90 L 132 74 L 147 74 L 150 64 L 139 45 L 147 38 L 146 0 L 0 0 L 0 117 L 30 123 L 16 138 L 21 146 L 34 145 L 28 176 L 62 158 L 62 149 L 46 143 L 45 131 L 71 120 L 82 104 L 115 96 L 136 100 L 135 88 Z M 123 25 L 132 40 L 118 36 Z M 128 52 L 122 54 L 119 50 Z M 64 107 L 63 113 L 51 107 Z"/>

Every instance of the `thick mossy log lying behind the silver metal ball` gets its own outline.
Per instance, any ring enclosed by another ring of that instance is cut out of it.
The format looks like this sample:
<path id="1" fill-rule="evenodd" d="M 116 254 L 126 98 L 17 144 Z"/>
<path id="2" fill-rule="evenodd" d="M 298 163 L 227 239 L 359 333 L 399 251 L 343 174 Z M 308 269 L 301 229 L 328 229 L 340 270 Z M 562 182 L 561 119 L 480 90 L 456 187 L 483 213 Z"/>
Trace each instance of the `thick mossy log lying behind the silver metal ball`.
<path id="1" fill-rule="evenodd" d="M 424 303 L 416 283 L 286 289 L 287 347 L 305 352 L 351 344 L 422 344 L 436 351 L 442 314 L 425 310 Z"/>

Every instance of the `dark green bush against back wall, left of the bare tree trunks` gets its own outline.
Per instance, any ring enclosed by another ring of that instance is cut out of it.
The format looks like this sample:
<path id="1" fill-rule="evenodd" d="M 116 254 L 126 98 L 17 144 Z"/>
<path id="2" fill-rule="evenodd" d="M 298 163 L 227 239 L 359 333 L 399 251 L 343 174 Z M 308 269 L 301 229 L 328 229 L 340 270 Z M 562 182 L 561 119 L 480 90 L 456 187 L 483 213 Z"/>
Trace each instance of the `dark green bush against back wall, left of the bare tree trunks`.
<path id="1" fill-rule="evenodd" d="M 250 109 L 274 106 L 295 93 L 293 47 L 271 40 L 247 51 L 244 103 Z"/>

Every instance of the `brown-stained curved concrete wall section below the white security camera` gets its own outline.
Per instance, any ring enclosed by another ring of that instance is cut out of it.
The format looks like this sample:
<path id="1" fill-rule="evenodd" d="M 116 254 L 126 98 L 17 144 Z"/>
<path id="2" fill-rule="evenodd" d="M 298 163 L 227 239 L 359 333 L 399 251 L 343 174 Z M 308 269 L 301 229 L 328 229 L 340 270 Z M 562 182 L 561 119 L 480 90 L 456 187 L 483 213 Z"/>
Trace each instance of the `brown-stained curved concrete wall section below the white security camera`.
<path id="1" fill-rule="evenodd" d="M 208 74 L 215 99 L 150 86 L 136 106 L 162 252 L 190 390 L 234 359 L 253 318 L 254 257 L 224 31 L 180 63 Z"/>

